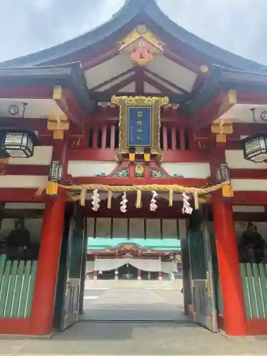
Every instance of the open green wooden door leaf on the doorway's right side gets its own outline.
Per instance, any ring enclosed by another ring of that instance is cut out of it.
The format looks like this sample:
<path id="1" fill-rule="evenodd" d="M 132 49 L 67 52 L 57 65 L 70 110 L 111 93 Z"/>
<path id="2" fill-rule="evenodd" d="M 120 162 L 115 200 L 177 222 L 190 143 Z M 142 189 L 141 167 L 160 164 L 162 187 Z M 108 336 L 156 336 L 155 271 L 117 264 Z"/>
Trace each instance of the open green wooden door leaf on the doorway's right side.
<path id="1" fill-rule="evenodd" d="M 189 231 L 189 256 L 194 321 L 217 333 L 211 246 L 206 222 L 197 231 Z"/>

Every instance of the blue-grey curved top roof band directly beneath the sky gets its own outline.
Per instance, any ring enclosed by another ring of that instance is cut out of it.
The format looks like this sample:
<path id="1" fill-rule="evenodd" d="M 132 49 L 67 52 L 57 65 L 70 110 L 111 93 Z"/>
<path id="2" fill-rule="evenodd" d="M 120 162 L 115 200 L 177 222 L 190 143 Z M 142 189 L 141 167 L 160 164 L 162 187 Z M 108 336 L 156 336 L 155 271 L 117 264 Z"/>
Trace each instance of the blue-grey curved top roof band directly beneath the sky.
<path id="1" fill-rule="evenodd" d="M 120 31 L 121 28 L 127 25 L 127 23 L 132 21 L 135 16 L 141 12 L 145 13 L 152 21 L 157 23 L 157 26 L 160 26 L 163 31 L 169 33 L 173 38 L 211 57 L 213 63 L 257 73 L 267 72 L 267 66 L 237 56 L 234 53 L 219 48 L 189 33 L 177 25 L 177 23 L 170 20 L 169 17 L 159 9 L 155 0 L 126 0 L 124 6 L 112 16 L 112 19 L 93 29 L 93 31 L 61 43 L 58 46 L 53 46 L 43 51 L 29 54 L 28 56 L 4 61 L 0 63 L 0 67 L 38 66 L 43 63 L 51 63 L 58 58 L 71 55 L 84 48 L 94 46 L 105 39 L 107 40 L 112 34 Z"/>

